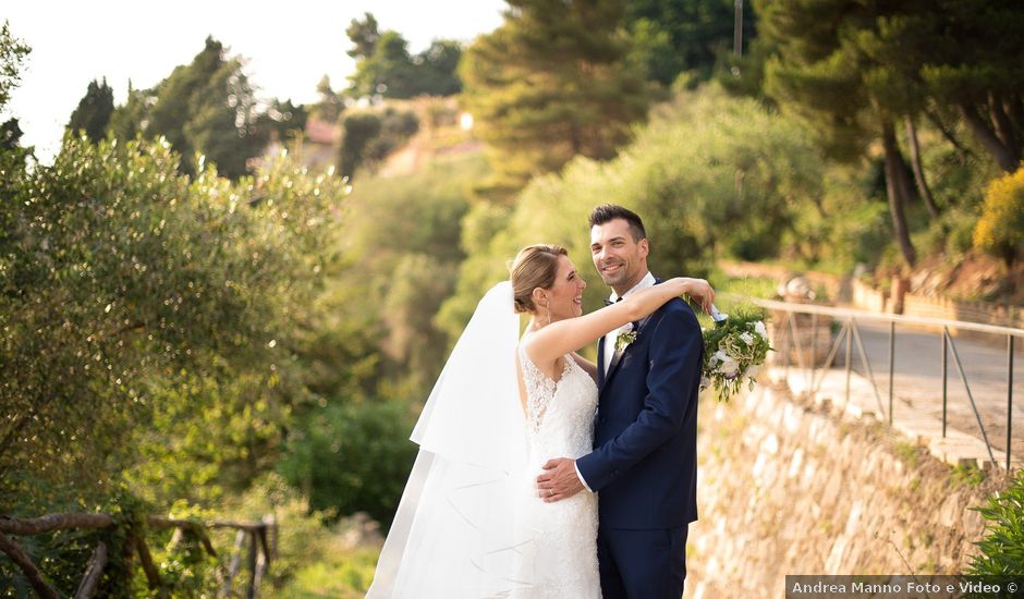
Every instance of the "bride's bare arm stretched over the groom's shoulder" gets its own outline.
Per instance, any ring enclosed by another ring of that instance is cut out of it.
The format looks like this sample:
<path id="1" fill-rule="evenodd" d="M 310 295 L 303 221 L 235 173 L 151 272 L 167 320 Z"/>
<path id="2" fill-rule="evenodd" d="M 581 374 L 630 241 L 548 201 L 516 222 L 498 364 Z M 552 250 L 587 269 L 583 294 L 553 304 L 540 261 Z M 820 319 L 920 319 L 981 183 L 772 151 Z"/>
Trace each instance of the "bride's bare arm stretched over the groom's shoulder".
<path id="1" fill-rule="evenodd" d="M 676 277 L 661 284 L 630 294 L 622 302 L 592 311 L 580 318 L 559 320 L 531 334 L 525 343 L 529 359 L 540 366 L 553 364 L 559 357 L 594 343 L 605 333 L 626 322 L 639 320 L 673 297 L 691 290 L 706 289 L 707 281 Z"/>

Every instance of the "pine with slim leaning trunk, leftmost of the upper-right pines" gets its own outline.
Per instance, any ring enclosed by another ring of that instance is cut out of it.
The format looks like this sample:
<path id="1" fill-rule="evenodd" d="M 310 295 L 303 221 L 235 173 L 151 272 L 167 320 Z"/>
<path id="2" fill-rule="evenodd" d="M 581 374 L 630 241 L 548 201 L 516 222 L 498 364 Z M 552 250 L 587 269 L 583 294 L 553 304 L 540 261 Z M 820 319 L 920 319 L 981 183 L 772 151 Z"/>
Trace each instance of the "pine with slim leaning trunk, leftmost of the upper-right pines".
<path id="1" fill-rule="evenodd" d="M 899 4 L 899 5 L 897 5 Z M 919 106 L 919 90 L 894 71 L 887 54 L 901 37 L 892 25 L 915 13 L 911 3 L 858 0 L 765 1 L 761 35 L 776 45 L 766 87 L 775 99 L 804 114 L 833 158 L 855 160 L 881 142 L 893 233 L 913 266 L 907 204 L 917 197 L 897 126 Z"/>

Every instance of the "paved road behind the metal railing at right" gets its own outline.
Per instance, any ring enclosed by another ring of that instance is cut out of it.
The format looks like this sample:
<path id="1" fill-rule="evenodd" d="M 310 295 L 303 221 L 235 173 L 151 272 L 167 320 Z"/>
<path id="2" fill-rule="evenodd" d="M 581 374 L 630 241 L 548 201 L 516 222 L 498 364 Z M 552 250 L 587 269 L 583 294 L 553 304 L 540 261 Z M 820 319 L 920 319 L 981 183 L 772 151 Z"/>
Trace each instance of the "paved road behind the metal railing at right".
<path id="1" fill-rule="evenodd" d="M 881 395 L 882 405 L 889 404 L 889 325 L 887 322 L 857 321 L 865 353 Z M 977 333 L 974 333 L 977 334 Z M 833 335 L 834 340 L 834 335 Z M 1012 448 L 1014 457 L 1024 457 L 1024 343 L 1017 338 L 1014 346 Z M 967 384 L 980 415 L 982 425 L 991 445 L 1007 447 L 1007 339 L 953 337 L 953 344 L 963 364 Z M 842 343 L 834 368 L 845 365 Z M 856 341 L 852 345 L 853 369 L 867 376 Z M 893 409 L 923 411 L 942 417 L 942 338 L 938 331 L 897 326 L 893 376 Z M 960 377 L 952 350 L 948 358 L 948 423 L 950 427 L 983 438 L 978 418 Z"/>

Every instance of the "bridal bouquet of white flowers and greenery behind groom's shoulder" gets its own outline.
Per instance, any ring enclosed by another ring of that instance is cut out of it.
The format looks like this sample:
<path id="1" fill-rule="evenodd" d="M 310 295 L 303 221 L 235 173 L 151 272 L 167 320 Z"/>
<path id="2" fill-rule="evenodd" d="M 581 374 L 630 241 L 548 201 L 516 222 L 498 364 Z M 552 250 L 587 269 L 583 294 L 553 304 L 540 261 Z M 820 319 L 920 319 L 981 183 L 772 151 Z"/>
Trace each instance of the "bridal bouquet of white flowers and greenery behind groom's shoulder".
<path id="1" fill-rule="evenodd" d="M 711 316 L 715 327 L 704 330 L 700 390 L 714 387 L 718 401 L 729 401 L 744 383 L 754 390 L 771 345 L 761 314 L 719 315 L 712 306 Z"/>

